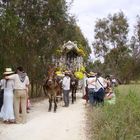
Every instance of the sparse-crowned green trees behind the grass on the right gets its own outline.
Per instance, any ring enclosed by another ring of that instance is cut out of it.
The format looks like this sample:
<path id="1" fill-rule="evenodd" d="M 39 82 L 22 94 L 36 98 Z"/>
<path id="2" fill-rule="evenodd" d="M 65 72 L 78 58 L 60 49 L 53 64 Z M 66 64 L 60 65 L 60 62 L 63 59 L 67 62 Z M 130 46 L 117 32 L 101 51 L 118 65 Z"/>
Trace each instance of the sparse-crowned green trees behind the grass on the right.
<path id="1" fill-rule="evenodd" d="M 104 63 L 100 69 L 104 74 L 112 74 L 122 83 L 139 78 L 139 20 L 136 37 L 128 40 L 128 21 L 123 12 L 99 19 L 95 25 L 93 49 L 96 57 L 102 56 Z"/>

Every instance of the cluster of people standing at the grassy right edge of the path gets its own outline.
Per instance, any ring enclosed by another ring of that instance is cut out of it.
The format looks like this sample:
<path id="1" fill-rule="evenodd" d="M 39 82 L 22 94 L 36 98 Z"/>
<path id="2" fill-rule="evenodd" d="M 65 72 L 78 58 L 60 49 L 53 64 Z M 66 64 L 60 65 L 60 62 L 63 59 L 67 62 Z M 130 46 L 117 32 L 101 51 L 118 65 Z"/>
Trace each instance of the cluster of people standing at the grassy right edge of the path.
<path id="1" fill-rule="evenodd" d="M 91 106 L 103 105 L 104 101 L 115 103 L 115 94 L 110 76 L 103 78 L 101 73 L 90 72 L 84 77 L 84 96 Z"/>

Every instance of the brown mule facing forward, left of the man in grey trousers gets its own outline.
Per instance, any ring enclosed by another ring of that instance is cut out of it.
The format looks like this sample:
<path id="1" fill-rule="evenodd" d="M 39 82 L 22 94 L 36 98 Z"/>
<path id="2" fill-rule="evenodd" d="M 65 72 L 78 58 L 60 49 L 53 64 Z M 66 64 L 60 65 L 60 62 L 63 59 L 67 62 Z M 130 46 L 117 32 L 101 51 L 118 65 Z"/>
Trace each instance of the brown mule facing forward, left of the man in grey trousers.
<path id="1" fill-rule="evenodd" d="M 43 85 L 44 93 L 48 96 L 49 99 L 49 109 L 50 112 L 52 109 L 52 103 L 54 103 L 54 112 L 57 109 L 57 96 L 61 94 L 61 86 L 57 82 L 55 72 L 52 71 L 48 74 L 45 83 Z"/>

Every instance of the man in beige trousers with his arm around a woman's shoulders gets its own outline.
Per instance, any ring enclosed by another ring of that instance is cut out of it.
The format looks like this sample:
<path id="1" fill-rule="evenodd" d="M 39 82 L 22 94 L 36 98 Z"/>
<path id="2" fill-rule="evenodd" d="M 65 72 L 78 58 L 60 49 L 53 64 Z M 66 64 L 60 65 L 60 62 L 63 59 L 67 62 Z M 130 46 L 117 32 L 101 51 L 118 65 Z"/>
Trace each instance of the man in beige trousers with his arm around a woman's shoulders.
<path id="1" fill-rule="evenodd" d="M 29 77 L 24 72 L 23 67 L 17 68 L 17 73 L 6 76 L 6 79 L 14 80 L 14 111 L 16 123 L 26 123 L 27 121 L 27 87 L 29 86 Z M 20 120 L 20 102 L 21 102 L 21 120 Z"/>

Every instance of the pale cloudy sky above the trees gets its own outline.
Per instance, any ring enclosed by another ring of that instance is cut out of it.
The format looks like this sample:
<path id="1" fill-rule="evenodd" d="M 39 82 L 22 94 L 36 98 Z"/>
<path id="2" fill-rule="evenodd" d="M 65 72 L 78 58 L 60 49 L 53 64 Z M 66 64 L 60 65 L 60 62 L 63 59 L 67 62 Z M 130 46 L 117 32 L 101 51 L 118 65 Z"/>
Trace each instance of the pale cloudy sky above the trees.
<path id="1" fill-rule="evenodd" d="M 66 1 L 69 3 L 72 0 Z M 119 11 L 126 15 L 132 32 L 136 16 L 140 14 L 140 0 L 73 0 L 69 12 L 76 16 L 77 24 L 91 44 L 94 40 L 95 21 Z"/>

